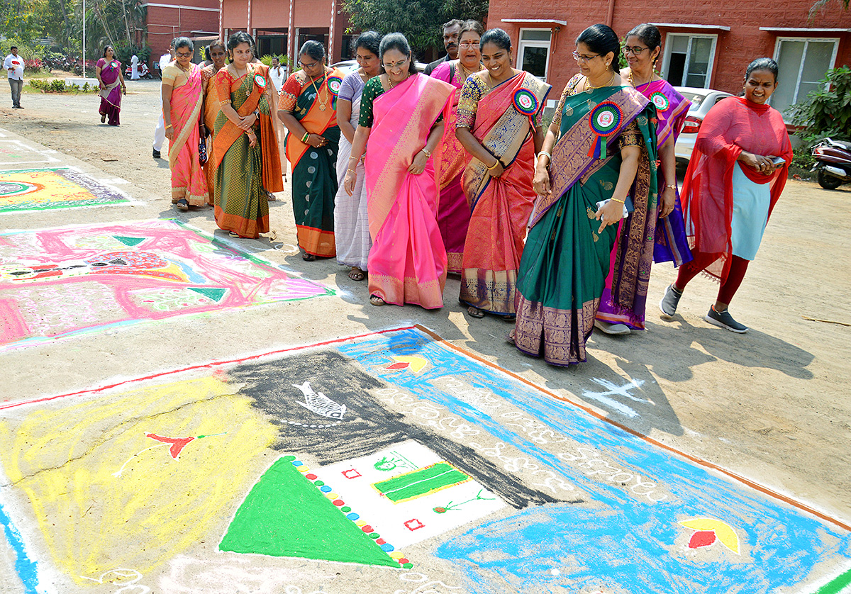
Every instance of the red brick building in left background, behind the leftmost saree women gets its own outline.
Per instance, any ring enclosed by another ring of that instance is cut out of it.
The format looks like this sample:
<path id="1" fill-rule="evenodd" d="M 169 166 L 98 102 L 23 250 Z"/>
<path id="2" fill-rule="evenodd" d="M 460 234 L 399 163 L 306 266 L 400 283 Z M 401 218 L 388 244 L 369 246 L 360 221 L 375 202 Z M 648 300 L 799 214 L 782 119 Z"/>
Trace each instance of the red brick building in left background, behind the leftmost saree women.
<path id="1" fill-rule="evenodd" d="M 219 37 L 220 0 L 157 0 L 142 7 L 148 14 L 147 43 L 153 64 L 168 54 L 174 37 L 189 37 L 197 45 Z"/>

